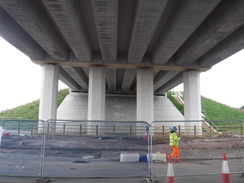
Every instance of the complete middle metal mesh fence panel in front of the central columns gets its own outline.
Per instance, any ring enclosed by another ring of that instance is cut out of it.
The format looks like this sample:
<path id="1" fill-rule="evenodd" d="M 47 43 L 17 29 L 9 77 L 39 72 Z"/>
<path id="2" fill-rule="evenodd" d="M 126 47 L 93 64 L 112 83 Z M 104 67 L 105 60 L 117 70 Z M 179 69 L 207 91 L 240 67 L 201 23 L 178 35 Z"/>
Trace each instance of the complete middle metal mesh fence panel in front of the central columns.
<path id="1" fill-rule="evenodd" d="M 145 122 L 48 121 L 45 177 L 146 177 L 148 124 Z"/>

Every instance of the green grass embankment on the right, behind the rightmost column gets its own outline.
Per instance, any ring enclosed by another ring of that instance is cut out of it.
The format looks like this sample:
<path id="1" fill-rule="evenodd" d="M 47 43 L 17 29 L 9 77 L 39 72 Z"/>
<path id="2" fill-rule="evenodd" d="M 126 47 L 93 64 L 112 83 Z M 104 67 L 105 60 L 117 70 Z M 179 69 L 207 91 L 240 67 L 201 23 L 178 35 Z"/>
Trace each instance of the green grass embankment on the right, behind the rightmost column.
<path id="1" fill-rule="evenodd" d="M 179 104 L 172 96 L 171 92 L 168 92 L 168 98 L 177 109 L 184 114 L 184 105 Z M 215 124 L 224 124 L 225 122 L 223 122 L 223 120 L 244 120 L 244 110 L 242 109 L 232 108 L 203 96 L 201 97 L 201 103 L 202 111 L 205 112 L 205 115 L 208 118 L 207 120 L 222 120 L 222 122 L 215 122 Z M 239 124 L 239 122 L 237 123 Z M 228 124 L 228 122 L 226 122 L 226 124 Z M 233 122 L 233 124 L 235 124 L 235 122 Z"/>

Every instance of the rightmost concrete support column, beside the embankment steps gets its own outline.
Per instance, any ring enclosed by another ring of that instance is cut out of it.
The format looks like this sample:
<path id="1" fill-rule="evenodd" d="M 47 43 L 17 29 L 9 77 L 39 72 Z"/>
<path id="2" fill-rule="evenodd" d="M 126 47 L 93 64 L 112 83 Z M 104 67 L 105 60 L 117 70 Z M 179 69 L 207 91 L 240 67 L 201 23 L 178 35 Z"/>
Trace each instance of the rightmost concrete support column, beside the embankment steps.
<path id="1" fill-rule="evenodd" d="M 184 82 L 184 116 L 185 125 L 194 126 L 200 129 L 201 120 L 201 95 L 200 75 L 198 71 L 187 71 L 183 74 Z M 187 122 L 188 121 L 188 122 Z"/>

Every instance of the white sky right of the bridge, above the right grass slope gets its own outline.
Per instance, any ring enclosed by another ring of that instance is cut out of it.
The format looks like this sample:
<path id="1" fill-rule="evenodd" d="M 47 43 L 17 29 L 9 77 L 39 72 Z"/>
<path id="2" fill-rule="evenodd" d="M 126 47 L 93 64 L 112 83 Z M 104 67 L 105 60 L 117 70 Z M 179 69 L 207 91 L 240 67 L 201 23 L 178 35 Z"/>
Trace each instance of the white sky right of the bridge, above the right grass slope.
<path id="1" fill-rule="evenodd" d="M 200 94 L 234 108 L 244 106 L 244 49 L 200 73 Z M 172 89 L 183 91 L 183 84 Z"/>

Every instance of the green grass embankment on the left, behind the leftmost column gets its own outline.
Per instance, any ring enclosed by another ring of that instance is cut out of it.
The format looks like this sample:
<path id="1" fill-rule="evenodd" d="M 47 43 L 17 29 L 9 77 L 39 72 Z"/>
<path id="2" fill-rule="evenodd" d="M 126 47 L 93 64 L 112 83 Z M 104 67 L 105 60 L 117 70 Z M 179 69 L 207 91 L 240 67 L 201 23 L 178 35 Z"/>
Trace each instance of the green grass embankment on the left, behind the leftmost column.
<path id="1" fill-rule="evenodd" d="M 64 100 L 66 95 L 68 95 L 68 93 L 69 93 L 69 89 L 63 89 L 58 92 L 57 107 L 61 104 L 61 102 Z M 40 100 L 35 100 L 25 105 L 21 105 L 13 109 L 6 110 L 0 113 L 0 118 L 11 117 L 11 118 L 22 118 L 22 119 L 38 119 L 39 102 Z"/>

